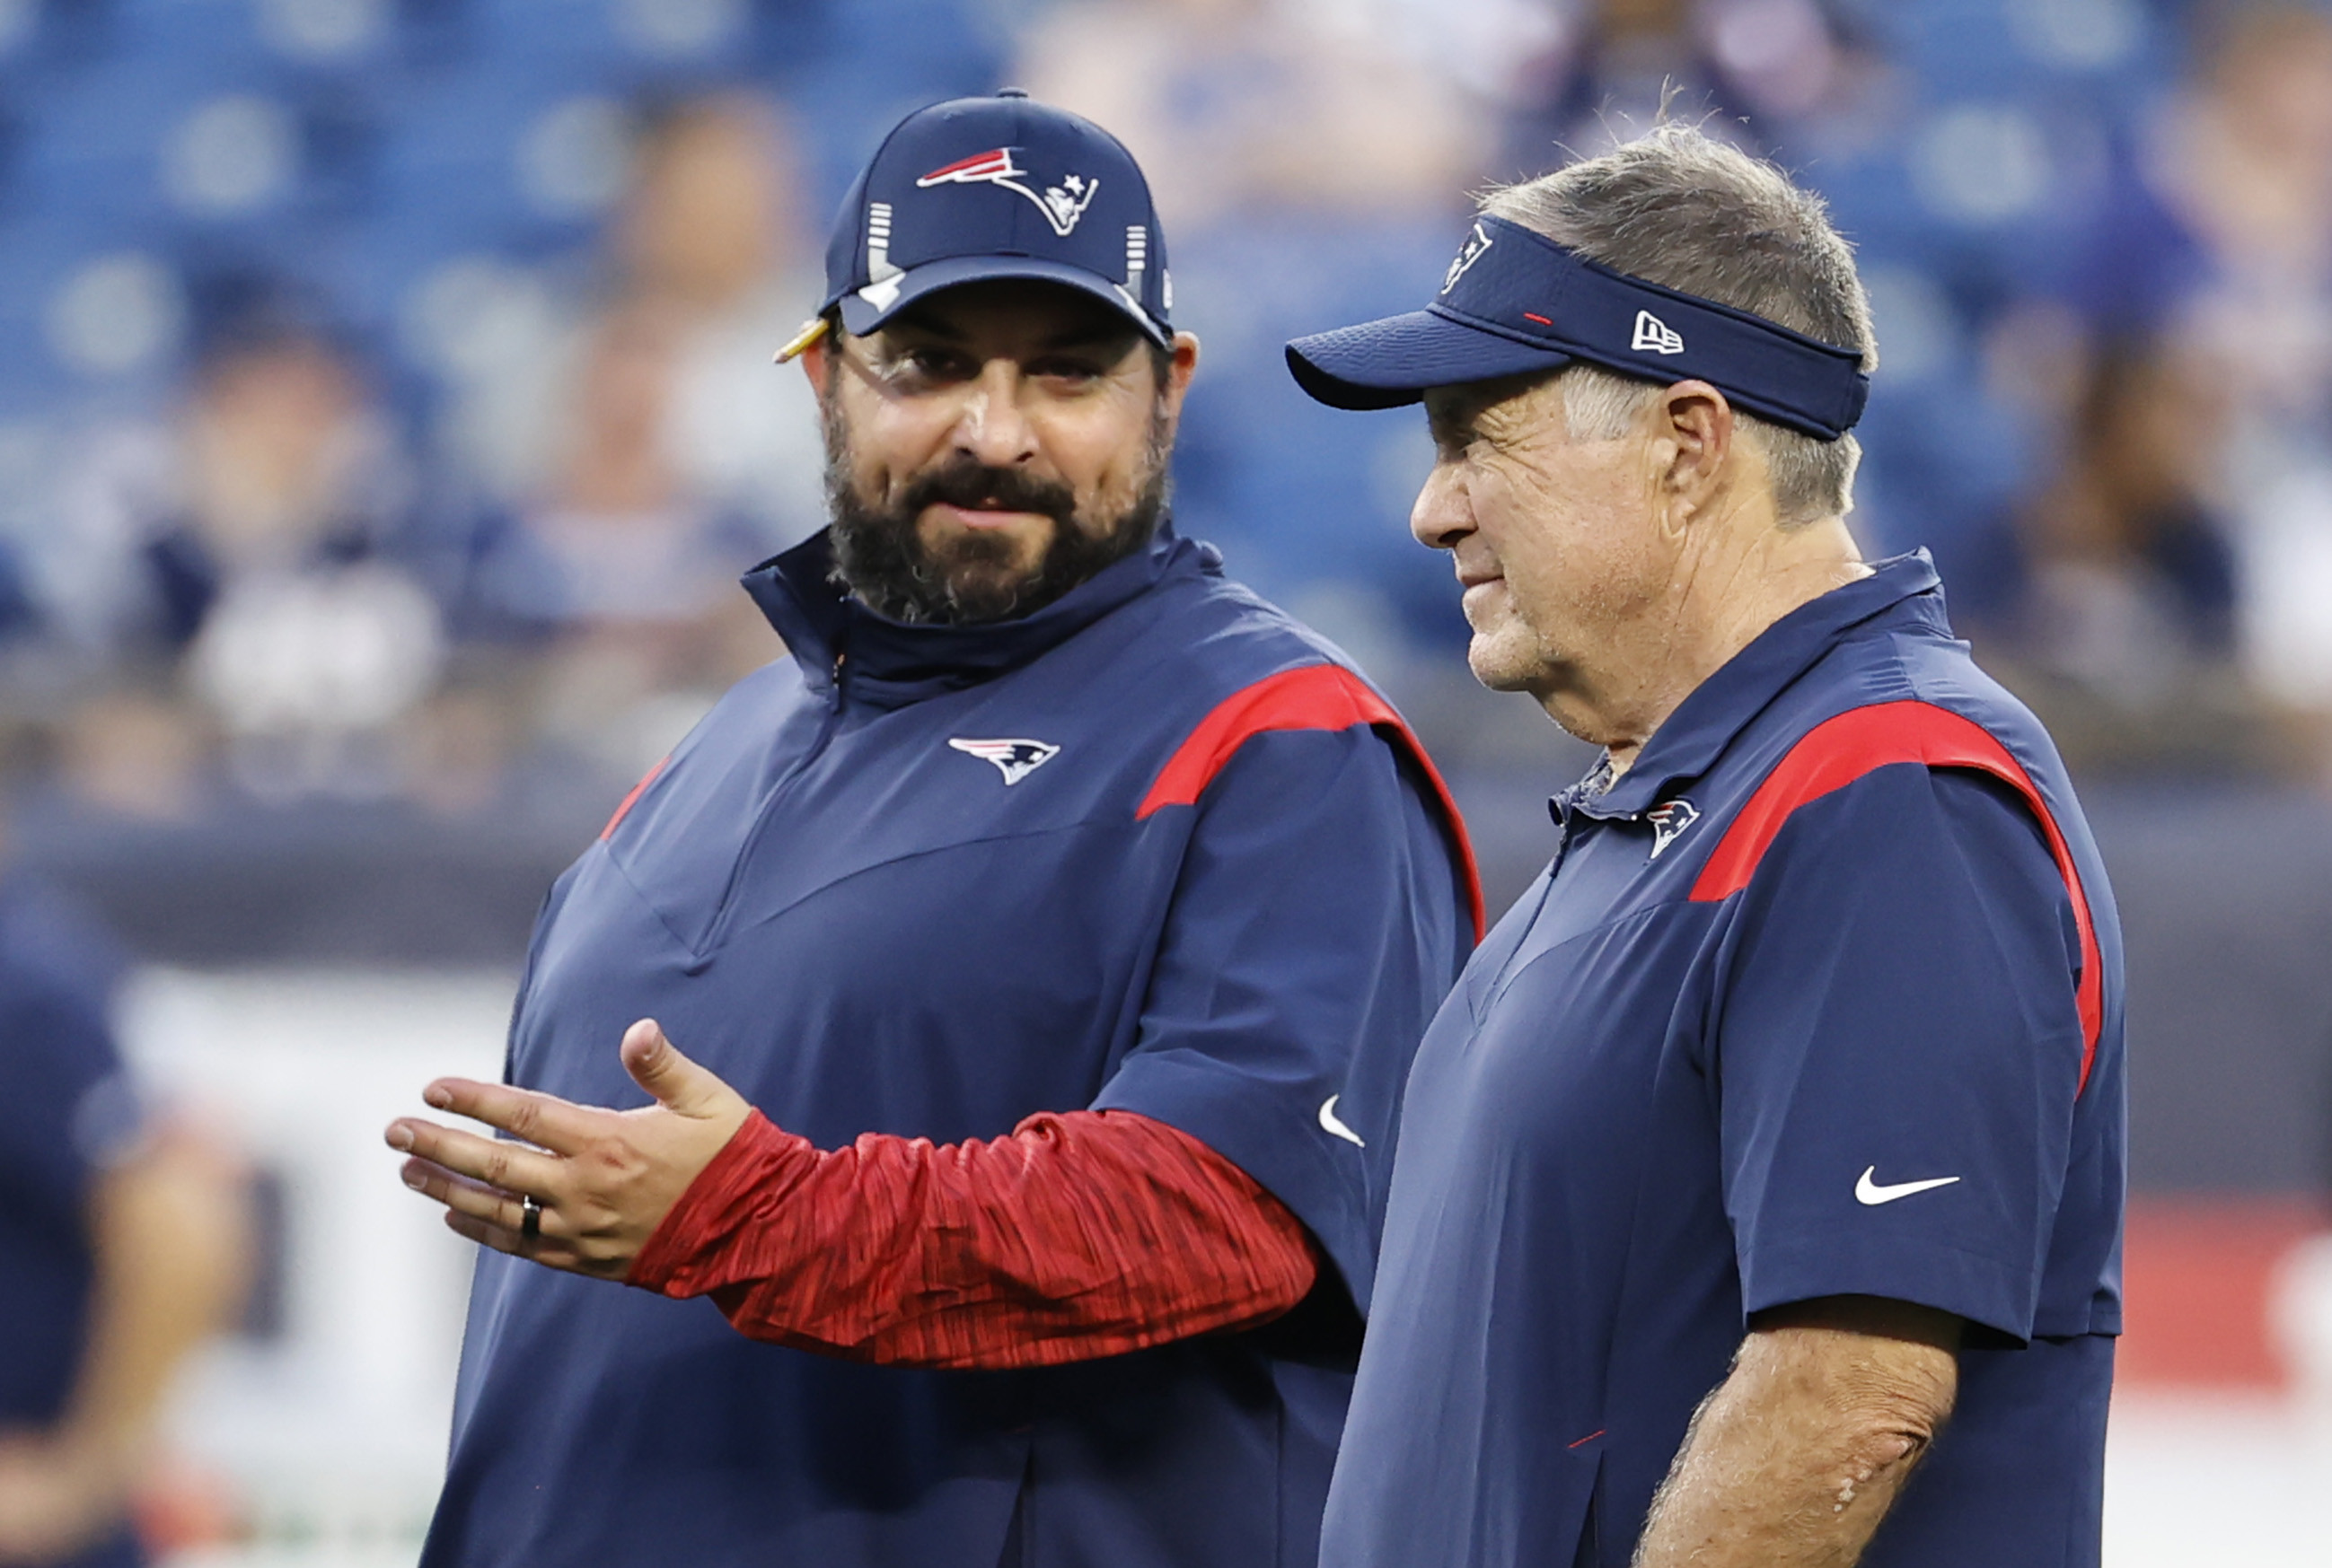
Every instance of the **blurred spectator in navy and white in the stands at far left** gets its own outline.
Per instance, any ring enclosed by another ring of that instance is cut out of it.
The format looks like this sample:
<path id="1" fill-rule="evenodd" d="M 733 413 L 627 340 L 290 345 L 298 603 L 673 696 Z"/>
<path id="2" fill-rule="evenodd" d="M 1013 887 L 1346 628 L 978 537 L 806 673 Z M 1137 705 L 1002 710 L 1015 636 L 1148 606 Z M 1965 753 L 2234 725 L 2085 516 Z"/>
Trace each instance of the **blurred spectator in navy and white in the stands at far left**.
<path id="1" fill-rule="evenodd" d="M 75 783 L 184 808 L 215 727 L 261 797 L 387 792 L 389 734 L 443 657 L 436 608 L 392 559 L 408 496 L 389 422 L 312 319 L 261 301 L 219 324 L 177 415 L 100 438 L 68 478 L 56 613 L 124 687 L 68 736 L 93 767 Z"/>

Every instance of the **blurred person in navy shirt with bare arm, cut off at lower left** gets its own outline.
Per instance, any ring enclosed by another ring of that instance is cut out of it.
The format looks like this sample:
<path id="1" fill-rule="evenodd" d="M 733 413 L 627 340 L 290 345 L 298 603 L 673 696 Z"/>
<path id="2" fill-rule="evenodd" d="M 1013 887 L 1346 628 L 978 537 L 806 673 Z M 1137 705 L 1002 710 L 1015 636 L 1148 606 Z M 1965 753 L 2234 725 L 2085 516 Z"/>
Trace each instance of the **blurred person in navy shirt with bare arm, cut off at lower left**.
<path id="1" fill-rule="evenodd" d="M 112 967 L 0 881 L 0 1563 L 145 1561 L 131 1512 L 161 1400 L 250 1274 L 233 1165 L 121 1067 Z"/>

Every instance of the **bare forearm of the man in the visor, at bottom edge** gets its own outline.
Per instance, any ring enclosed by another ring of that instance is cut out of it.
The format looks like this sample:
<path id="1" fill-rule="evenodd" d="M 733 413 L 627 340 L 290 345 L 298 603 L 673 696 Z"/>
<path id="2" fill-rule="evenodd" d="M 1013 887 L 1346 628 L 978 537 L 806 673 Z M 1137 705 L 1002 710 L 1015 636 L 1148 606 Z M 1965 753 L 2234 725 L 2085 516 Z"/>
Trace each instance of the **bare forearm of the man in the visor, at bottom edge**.
<path id="1" fill-rule="evenodd" d="M 1651 1505 L 1637 1568 L 1849 1568 L 1959 1391 L 1959 1319 L 1870 1295 L 1758 1314 Z"/>

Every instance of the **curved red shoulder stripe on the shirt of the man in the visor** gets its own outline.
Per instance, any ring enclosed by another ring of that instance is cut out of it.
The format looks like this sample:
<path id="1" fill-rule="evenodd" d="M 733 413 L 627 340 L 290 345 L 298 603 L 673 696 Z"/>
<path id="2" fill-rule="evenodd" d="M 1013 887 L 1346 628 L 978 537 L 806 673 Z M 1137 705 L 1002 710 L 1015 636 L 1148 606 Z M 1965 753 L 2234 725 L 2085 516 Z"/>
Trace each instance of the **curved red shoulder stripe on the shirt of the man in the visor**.
<path id="1" fill-rule="evenodd" d="M 2057 827 L 2054 813 L 2040 799 L 2040 787 L 2031 774 L 2008 755 L 2008 748 L 1992 739 L 1975 720 L 1926 701 L 1882 701 L 1868 708 L 1849 708 L 1838 718 L 1810 729 L 1786 757 L 1765 776 L 1749 804 L 1742 806 L 1726 836 L 1716 841 L 1716 853 L 1693 883 L 1695 902 L 1726 899 L 1749 885 L 1758 862 L 1772 848 L 1782 825 L 1807 801 L 1894 762 L 1924 762 L 1926 767 L 1964 767 L 1992 774 L 2015 787 L 2024 804 L 2040 820 L 2050 855 L 2057 857 L 2057 874 L 2073 899 L 2073 925 L 2080 930 L 2080 1081 L 2089 1083 L 2089 1067 L 2096 1062 L 2096 1039 L 2106 1027 L 2106 962 L 2096 946 L 2096 927 L 2089 920 L 2089 895 L 2082 892 L 2073 850 Z"/>

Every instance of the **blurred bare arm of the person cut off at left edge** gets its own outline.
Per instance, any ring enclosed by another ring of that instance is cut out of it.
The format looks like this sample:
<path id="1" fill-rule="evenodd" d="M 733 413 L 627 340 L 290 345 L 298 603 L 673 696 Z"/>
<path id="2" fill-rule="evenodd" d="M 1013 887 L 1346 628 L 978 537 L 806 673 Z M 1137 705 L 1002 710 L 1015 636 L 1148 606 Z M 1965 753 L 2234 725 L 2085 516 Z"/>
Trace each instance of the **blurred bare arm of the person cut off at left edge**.
<path id="1" fill-rule="evenodd" d="M 236 1312 L 250 1216 L 231 1165 L 184 1132 L 98 1179 L 89 1351 L 63 1421 L 0 1442 L 0 1563 L 119 1528 L 180 1363 Z"/>

